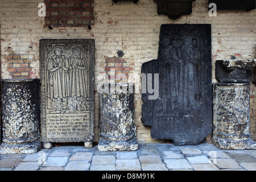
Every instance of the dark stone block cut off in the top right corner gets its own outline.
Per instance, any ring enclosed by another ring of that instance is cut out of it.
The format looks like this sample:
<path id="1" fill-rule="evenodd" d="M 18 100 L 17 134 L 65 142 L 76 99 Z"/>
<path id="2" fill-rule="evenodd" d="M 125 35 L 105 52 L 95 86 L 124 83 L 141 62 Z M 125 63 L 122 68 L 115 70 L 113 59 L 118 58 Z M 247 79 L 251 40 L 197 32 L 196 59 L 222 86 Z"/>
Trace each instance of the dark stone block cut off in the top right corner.
<path id="1" fill-rule="evenodd" d="M 210 3 L 215 3 L 217 6 L 217 11 L 250 11 L 255 10 L 255 0 L 209 0 Z"/>

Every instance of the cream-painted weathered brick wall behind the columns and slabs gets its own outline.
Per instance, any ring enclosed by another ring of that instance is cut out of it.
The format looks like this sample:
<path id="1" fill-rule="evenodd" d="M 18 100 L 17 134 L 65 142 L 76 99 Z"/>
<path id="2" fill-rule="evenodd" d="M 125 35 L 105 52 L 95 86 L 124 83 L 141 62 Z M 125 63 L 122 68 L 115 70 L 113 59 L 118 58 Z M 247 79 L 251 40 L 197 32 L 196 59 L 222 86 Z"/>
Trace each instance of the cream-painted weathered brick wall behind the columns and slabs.
<path id="1" fill-rule="evenodd" d="M 72 0 L 69 0 L 71 2 Z M 56 3 L 50 2 L 50 3 Z M 61 1 L 64 2 L 64 1 Z M 57 5 L 60 5 L 60 3 Z M 65 1 L 66 2 L 66 1 Z M 193 2 L 191 15 L 171 20 L 165 15 L 157 14 L 157 5 L 152 0 L 139 0 L 135 3 L 113 3 L 112 0 L 94 0 L 90 2 L 94 10 L 94 20 L 88 27 L 56 26 L 46 28 L 48 18 L 38 16 L 38 4 L 42 0 L 1 0 L 1 77 L 40 78 L 39 69 L 39 40 L 40 39 L 95 39 L 95 140 L 98 139 L 98 93 L 97 76 L 106 73 L 111 67 L 131 69 L 129 73 L 141 73 L 141 65 L 158 57 L 159 32 L 161 24 L 171 23 L 209 23 L 212 24 L 212 81 L 214 64 L 219 59 L 230 59 L 236 56 L 241 59 L 256 58 L 256 10 L 220 11 L 216 17 L 208 15 L 208 0 Z M 78 1 L 74 2 L 80 3 Z M 85 2 L 86 3 L 86 2 Z M 56 6 L 53 5 L 53 6 Z M 67 6 L 67 3 L 65 4 Z M 78 6 L 78 5 L 76 5 Z M 79 5 L 81 6 L 81 5 Z M 84 5 L 83 5 L 84 6 Z M 55 15 L 63 18 L 57 9 Z M 86 12 L 87 10 L 85 10 Z M 56 14 L 56 12 L 58 14 Z M 75 11 L 73 11 L 75 14 Z M 84 11 L 82 11 L 84 12 Z M 91 16 L 92 11 L 90 11 Z M 53 13 L 54 14 L 54 13 Z M 48 13 L 49 15 L 49 13 Z M 75 19 L 75 18 L 74 18 Z M 59 20 L 58 20 L 59 21 Z M 49 23 L 49 22 L 48 22 Z M 75 23 L 75 22 L 74 22 Z M 60 24 L 60 22 L 58 22 Z M 71 23 L 72 24 L 72 23 Z M 76 24 L 76 23 L 75 23 Z M 79 23 L 78 23 L 79 24 Z M 72 24 L 73 25 L 73 24 Z M 122 51 L 123 61 L 110 61 L 117 57 L 117 51 Z M 109 64 L 108 63 L 112 63 Z M 124 65 L 125 63 L 125 65 Z M 129 65 L 128 65 L 129 64 Z M 122 68 L 126 67 L 126 68 Z M 126 70 L 121 70 L 125 72 Z M 135 84 L 141 85 L 139 80 Z M 255 86 L 251 85 L 251 127 L 255 139 Z M 162 142 L 150 137 L 150 127 L 144 127 L 141 122 L 141 94 L 135 94 L 135 125 L 137 126 L 138 142 Z"/>

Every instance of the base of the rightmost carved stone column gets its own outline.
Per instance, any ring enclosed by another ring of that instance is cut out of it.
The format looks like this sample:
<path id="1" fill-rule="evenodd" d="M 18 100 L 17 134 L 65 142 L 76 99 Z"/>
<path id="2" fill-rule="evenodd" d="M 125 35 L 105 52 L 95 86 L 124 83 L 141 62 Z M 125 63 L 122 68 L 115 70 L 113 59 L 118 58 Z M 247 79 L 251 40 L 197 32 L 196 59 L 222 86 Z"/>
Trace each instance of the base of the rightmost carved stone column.
<path id="1" fill-rule="evenodd" d="M 256 142 L 251 138 L 226 139 L 221 137 L 213 137 L 213 141 L 216 147 L 224 150 L 256 149 Z"/>

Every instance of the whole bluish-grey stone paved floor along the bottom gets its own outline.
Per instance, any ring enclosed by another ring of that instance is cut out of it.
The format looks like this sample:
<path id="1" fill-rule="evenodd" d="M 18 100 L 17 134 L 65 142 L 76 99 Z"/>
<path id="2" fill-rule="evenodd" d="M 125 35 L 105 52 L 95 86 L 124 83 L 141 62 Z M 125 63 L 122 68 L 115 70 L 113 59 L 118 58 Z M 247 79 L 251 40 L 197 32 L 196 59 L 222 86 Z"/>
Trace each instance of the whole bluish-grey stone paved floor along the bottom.
<path id="1" fill-rule="evenodd" d="M 0 171 L 256 171 L 256 150 L 213 144 L 139 143 L 137 151 L 59 146 L 35 154 L 0 155 Z"/>

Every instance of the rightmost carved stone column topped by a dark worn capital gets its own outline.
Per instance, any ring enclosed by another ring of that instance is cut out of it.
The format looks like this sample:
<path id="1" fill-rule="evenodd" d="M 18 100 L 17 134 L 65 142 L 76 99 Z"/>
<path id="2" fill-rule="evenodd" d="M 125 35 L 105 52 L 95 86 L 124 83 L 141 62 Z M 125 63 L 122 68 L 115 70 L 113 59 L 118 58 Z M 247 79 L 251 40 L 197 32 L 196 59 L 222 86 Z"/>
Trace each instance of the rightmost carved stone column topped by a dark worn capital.
<path id="1" fill-rule="evenodd" d="M 218 60 L 213 84 L 213 142 L 221 149 L 256 149 L 250 138 L 250 84 L 255 60 Z"/>

